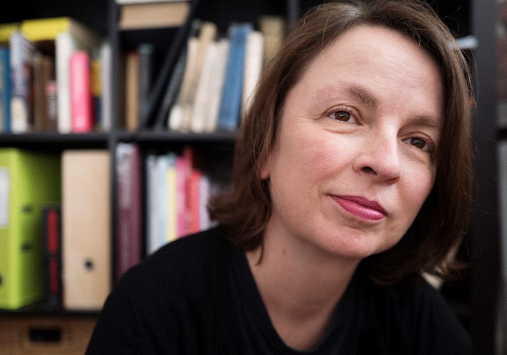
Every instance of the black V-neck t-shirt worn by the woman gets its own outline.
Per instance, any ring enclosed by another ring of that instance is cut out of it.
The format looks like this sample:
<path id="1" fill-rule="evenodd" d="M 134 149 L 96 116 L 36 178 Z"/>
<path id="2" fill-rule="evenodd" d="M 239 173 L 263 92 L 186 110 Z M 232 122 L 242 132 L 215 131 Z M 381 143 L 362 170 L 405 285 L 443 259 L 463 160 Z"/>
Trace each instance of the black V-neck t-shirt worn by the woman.
<path id="1" fill-rule="evenodd" d="M 286 346 L 242 251 L 213 229 L 130 269 L 100 313 L 87 354 L 459 354 L 472 342 L 437 290 L 376 287 L 359 267 L 319 344 Z"/>

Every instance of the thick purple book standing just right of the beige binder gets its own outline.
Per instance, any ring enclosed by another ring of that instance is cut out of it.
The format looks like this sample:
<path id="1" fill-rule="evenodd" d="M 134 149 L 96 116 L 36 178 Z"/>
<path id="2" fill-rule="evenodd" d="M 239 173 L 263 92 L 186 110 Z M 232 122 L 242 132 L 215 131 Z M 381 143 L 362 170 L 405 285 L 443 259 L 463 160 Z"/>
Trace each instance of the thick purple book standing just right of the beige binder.
<path id="1" fill-rule="evenodd" d="M 115 280 L 141 261 L 141 157 L 133 143 L 116 147 Z"/>

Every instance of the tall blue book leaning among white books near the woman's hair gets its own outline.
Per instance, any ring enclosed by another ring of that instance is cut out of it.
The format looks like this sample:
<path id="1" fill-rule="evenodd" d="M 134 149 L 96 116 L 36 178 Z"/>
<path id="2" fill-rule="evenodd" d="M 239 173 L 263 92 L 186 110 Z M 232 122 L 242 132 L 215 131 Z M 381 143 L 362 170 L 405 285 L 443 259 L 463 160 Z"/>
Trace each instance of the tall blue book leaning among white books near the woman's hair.
<path id="1" fill-rule="evenodd" d="M 234 131 L 238 127 L 241 112 L 246 37 L 252 30 L 251 23 L 232 23 L 229 27 L 231 45 L 216 127 L 218 130 Z"/>

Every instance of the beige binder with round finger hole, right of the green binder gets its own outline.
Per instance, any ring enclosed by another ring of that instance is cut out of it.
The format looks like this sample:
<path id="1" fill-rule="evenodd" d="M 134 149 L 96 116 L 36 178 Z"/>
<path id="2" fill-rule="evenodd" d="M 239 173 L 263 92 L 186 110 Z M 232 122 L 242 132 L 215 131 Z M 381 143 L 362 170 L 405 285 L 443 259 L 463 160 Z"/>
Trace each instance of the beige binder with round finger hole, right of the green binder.
<path id="1" fill-rule="evenodd" d="M 111 292 L 111 158 L 107 150 L 64 150 L 63 305 L 99 310 Z"/>

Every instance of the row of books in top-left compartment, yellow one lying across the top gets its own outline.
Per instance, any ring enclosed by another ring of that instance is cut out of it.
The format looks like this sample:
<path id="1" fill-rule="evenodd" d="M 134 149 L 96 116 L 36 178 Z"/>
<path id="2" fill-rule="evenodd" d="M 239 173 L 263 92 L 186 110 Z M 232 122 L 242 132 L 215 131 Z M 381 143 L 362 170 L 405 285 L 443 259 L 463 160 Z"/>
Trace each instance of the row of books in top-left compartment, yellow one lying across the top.
<path id="1" fill-rule="evenodd" d="M 102 92 L 110 46 L 70 17 L 23 20 L 0 31 L 3 133 L 109 129 Z"/>

